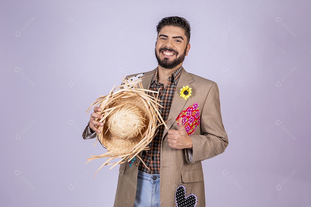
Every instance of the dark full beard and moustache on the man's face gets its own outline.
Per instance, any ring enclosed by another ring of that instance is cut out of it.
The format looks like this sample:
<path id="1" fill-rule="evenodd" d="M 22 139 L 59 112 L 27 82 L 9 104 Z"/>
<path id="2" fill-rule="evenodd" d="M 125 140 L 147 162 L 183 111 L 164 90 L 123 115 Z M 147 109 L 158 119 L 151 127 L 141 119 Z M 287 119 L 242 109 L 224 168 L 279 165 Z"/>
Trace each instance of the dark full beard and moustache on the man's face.
<path id="1" fill-rule="evenodd" d="M 174 52 L 176 57 L 174 60 L 169 60 L 169 58 L 165 57 L 163 60 L 160 59 L 160 56 L 158 55 L 157 52 L 161 52 L 162 50 L 166 50 L 166 51 L 169 51 L 169 52 Z M 187 46 L 185 48 L 185 50 L 183 51 L 183 54 L 180 54 L 179 57 L 178 54 L 179 52 L 173 50 L 172 48 L 167 48 L 167 47 L 161 47 L 159 49 L 159 51 L 156 51 L 155 49 L 155 53 L 156 53 L 156 59 L 158 61 L 158 64 L 163 67 L 163 68 L 166 68 L 166 69 L 173 69 L 174 67 L 176 67 L 177 65 L 179 65 L 180 63 L 183 62 L 183 60 L 185 59 L 185 56 L 186 56 L 186 53 L 187 53 Z"/>

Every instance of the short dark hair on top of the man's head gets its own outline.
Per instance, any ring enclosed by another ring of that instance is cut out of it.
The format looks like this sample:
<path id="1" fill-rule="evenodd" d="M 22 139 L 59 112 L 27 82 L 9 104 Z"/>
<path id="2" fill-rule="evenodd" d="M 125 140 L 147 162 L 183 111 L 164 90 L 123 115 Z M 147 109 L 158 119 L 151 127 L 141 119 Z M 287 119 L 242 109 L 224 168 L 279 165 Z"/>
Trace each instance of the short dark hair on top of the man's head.
<path id="1" fill-rule="evenodd" d="M 185 18 L 179 17 L 179 16 L 169 16 L 169 17 L 163 18 L 161 21 L 159 21 L 158 25 L 156 26 L 156 31 L 158 35 L 159 35 L 160 30 L 164 26 L 175 26 L 175 27 L 180 27 L 183 30 L 185 30 L 185 36 L 187 37 L 187 44 L 189 44 L 191 27 L 190 27 L 189 22 Z"/>

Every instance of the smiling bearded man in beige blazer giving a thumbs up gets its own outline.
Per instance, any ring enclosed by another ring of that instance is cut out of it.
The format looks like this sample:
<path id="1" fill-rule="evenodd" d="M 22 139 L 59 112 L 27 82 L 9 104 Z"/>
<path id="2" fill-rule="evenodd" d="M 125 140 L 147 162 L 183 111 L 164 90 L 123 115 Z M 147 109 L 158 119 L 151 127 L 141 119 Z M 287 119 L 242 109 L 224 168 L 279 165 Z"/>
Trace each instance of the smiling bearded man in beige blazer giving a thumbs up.
<path id="1" fill-rule="evenodd" d="M 203 207 L 205 193 L 201 161 L 219 155 L 228 145 L 220 114 L 218 86 L 211 80 L 187 73 L 182 67 L 190 50 L 190 25 L 186 19 L 166 17 L 156 29 L 158 67 L 145 72 L 142 85 L 152 91 L 160 90 L 159 103 L 163 108 L 159 110 L 168 129 L 159 126 L 159 132 L 149 144 L 150 150 L 140 154 L 150 170 L 139 159 L 131 167 L 128 163 L 120 165 L 114 206 L 175 207 L 187 203 L 188 206 Z M 197 107 L 200 120 L 190 136 L 183 120 L 178 120 L 179 125 L 175 121 L 188 106 Z M 84 139 L 101 133 L 95 128 L 95 125 L 102 124 L 95 121 L 95 118 L 101 118 L 96 113 L 100 110 L 94 107 L 83 133 Z"/>

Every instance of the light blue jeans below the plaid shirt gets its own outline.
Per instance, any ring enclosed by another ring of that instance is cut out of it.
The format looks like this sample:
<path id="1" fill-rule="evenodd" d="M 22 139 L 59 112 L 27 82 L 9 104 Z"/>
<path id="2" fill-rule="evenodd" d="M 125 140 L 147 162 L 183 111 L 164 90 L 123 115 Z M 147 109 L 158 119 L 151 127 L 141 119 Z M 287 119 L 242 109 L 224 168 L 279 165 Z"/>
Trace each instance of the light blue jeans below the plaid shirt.
<path id="1" fill-rule="evenodd" d="M 160 174 L 138 170 L 134 207 L 160 207 Z"/>

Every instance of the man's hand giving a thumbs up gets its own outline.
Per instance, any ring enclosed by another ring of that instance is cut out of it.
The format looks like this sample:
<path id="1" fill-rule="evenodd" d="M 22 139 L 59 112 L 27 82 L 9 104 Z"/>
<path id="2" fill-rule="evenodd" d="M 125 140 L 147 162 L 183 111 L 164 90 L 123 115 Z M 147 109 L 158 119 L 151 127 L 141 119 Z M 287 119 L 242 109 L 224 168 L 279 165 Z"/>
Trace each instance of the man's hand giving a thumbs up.
<path id="1" fill-rule="evenodd" d="M 167 133 L 167 141 L 169 146 L 175 150 L 192 149 L 192 140 L 187 134 L 185 127 L 183 126 L 183 118 L 178 119 L 179 129 L 170 129 Z"/>

